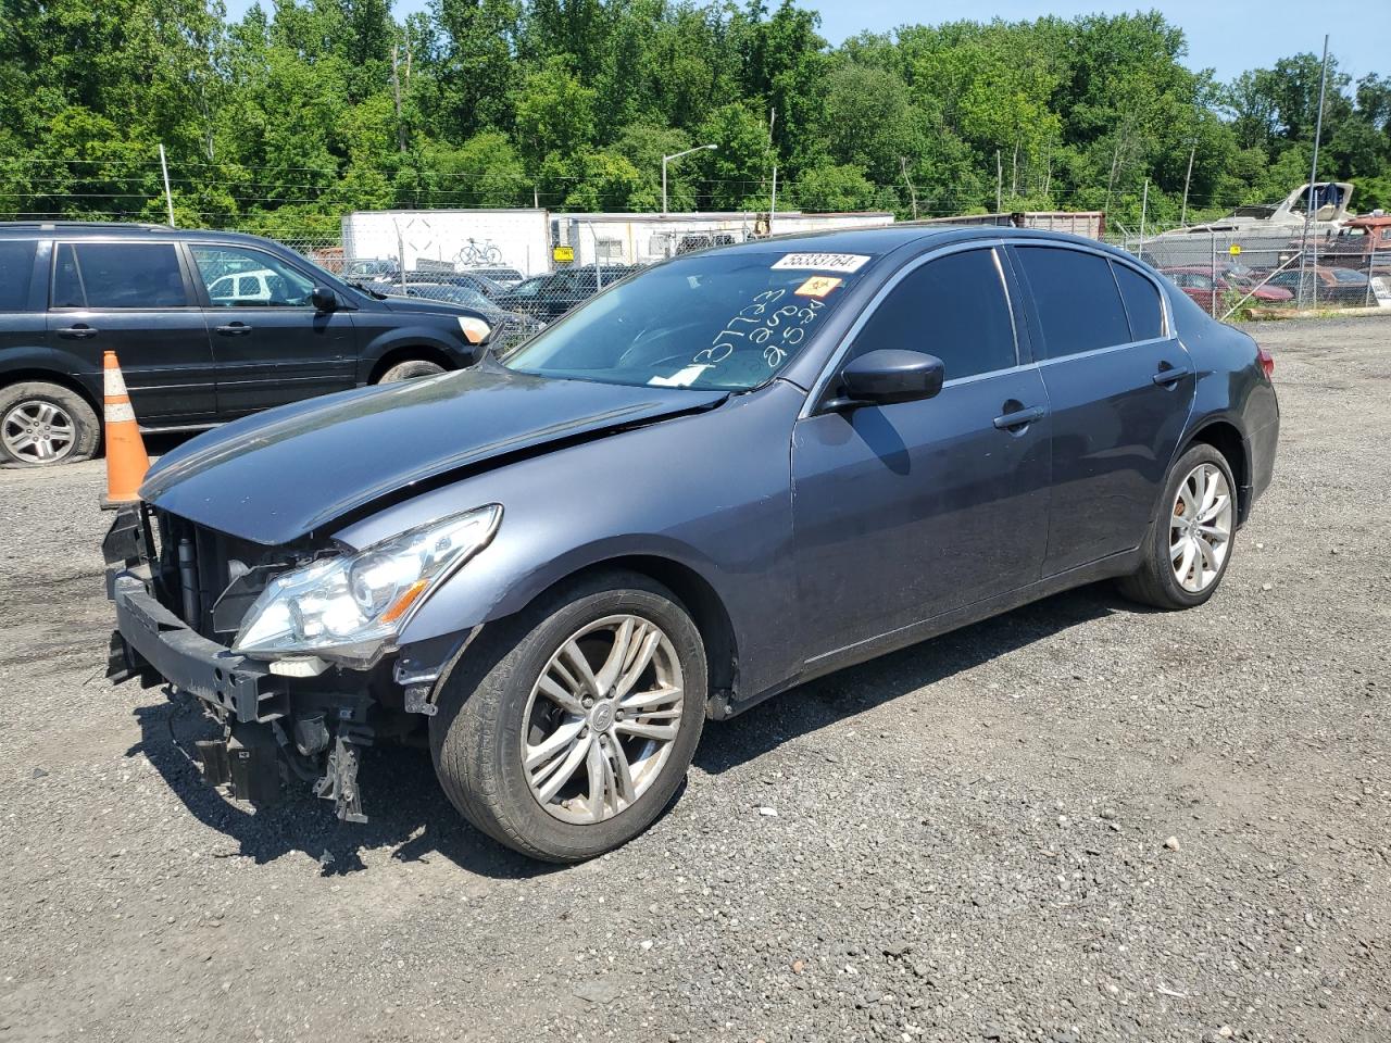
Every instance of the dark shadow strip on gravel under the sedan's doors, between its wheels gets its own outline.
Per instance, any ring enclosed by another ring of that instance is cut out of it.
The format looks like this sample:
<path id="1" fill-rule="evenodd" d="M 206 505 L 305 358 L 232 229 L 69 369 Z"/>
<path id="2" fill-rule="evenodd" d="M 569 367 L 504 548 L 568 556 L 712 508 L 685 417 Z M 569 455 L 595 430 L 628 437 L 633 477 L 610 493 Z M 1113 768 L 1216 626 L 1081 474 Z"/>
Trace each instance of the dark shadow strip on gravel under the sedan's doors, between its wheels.
<path id="1" fill-rule="evenodd" d="M 1057 594 L 899 652 L 801 684 L 723 725 L 705 729 L 696 765 L 711 775 L 776 750 L 883 702 L 942 681 L 1113 612 L 1153 612 L 1110 583 Z"/>

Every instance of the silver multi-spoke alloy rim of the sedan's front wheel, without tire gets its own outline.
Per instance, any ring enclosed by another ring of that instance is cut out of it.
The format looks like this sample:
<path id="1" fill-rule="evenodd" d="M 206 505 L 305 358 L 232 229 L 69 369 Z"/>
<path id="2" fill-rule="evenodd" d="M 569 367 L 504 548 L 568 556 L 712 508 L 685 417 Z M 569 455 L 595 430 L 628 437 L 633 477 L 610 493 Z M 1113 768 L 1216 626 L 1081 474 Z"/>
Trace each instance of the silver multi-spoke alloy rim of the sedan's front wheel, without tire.
<path id="1" fill-rule="evenodd" d="M 648 619 L 606 616 L 572 634 L 531 687 L 522 768 L 562 822 L 605 822 L 657 782 L 682 726 L 682 665 Z"/>

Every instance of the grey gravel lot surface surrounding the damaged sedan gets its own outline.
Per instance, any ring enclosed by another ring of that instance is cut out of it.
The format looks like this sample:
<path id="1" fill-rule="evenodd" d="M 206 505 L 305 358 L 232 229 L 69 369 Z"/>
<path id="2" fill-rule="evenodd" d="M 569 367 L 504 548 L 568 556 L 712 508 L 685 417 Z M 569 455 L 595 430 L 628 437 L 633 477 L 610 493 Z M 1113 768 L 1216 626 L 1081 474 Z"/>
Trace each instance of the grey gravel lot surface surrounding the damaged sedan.
<path id="1" fill-rule="evenodd" d="M 1391 1037 L 1391 321 L 1255 331 L 1284 442 L 1209 605 L 808 684 L 566 869 L 419 750 L 366 827 L 218 800 L 103 679 L 100 464 L 0 473 L 0 1042 Z"/>

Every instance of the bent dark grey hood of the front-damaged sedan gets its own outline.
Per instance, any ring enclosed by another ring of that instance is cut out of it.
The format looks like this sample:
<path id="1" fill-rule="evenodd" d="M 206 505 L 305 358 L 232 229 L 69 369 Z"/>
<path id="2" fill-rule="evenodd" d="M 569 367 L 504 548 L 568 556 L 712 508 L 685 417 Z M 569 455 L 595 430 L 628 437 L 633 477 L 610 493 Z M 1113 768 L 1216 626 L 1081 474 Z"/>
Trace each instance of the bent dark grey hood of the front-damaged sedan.
<path id="1" fill-rule="evenodd" d="M 160 458 L 140 496 L 221 533 L 285 544 L 413 485 L 726 395 L 479 367 L 236 420 Z"/>

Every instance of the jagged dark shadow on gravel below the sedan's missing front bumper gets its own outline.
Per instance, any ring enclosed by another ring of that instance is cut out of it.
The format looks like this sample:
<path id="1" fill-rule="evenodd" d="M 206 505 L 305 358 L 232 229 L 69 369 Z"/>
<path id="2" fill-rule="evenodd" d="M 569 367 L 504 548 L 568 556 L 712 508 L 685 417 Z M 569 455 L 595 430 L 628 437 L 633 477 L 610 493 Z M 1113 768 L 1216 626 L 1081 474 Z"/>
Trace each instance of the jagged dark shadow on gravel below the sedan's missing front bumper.
<path id="1" fill-rule="evenodd" d="M 338 822 L 328 801 L 307 795 L 307 784 L 305 795 L 287 795 L 273 808 L 252 812 L 204 783 L 193 763 L 193 740 L 216 734 L 213 722 L 193 702 L 192 695 L 184 695 L 136 708 L 142 738 L 127 755 L 143 754 L 193 816 L 231 841 L 214 850 L 214 858 L 250 858 L 262 865 L 298 851 L 317 861 L 323 876 L 363 871 L 364 852 L 378 851 L 402 862 L 442 857 L 494 879 L 524 879 L 562 868 L 509 851 L 465 822 L 441 791 L 428 752 L 413 747 L 362 751 L 366 825 Z"/>

